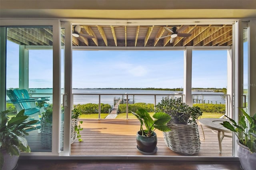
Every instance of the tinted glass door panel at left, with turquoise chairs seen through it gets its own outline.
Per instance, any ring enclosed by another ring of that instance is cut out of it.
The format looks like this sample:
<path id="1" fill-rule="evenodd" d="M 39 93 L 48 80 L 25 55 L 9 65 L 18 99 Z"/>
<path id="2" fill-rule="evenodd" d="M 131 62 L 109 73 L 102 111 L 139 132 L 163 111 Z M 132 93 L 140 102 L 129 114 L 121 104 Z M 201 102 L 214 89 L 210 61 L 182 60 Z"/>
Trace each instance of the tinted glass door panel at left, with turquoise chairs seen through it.
<path id="1" fill-rule="evenodd" d="M 34 152 L 52 152 L 52 39 L 52 27 L 7 28 L 7 110 L 12 117 L 26 109 L 29 119 L 38 120 L 37 130 L 26 136 Z M 10 93 L 20 98 L 15 104 Z M 24 102 L 28 99 L 30 102 Z"/>

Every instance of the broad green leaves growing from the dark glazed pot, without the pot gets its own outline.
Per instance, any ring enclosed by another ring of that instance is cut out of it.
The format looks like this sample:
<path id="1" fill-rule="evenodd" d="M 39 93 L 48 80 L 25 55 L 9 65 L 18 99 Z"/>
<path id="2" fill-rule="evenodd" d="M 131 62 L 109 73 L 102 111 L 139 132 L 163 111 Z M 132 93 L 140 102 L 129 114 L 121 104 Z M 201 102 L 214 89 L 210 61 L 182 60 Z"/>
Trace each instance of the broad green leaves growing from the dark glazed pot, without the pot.
<path id="1" fill-rule="evenodd" d="M 166 123 L 170 121 L 171 117 L 164 112 L 155 113 L 153 115 L 154 120 L 145 109 L 138 109 L 136 113 L 132 112 L 132 114 L 140 121 L 140 134 L 142 136 L 150 137 L 156 129 L 163 132 L 171 130 L 166 126 Z M 143 129 L 143 126 L 145 126 L 146 129 Z"/>

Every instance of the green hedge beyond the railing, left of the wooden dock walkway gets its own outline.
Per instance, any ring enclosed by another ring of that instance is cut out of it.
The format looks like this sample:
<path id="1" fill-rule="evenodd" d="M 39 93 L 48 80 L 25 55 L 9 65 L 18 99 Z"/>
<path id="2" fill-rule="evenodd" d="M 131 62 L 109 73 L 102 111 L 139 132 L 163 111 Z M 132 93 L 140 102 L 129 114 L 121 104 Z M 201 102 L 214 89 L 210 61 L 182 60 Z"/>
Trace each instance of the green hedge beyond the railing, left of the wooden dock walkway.
<path id="1" fill-rule="evenodd" d="M 98 113 L 99 105 L 94 103 L 78 104 L 77 109 L 80 109 L 82 114 Z M 108 113 L 108 109 L 111 109 L 109 104 L 100 103 L 100 113 Z"/>

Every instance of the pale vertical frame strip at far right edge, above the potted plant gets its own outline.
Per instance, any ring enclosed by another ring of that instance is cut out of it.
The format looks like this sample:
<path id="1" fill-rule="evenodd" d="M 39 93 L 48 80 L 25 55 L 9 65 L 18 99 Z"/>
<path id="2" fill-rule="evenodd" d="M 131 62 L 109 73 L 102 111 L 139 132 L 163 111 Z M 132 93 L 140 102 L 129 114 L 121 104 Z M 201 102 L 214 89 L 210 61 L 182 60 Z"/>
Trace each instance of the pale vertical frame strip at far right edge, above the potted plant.
<path id="1" fill-rule="evenodd" d="M 256 20 L 248 22 L 248 113 L 256 113 Z"/>

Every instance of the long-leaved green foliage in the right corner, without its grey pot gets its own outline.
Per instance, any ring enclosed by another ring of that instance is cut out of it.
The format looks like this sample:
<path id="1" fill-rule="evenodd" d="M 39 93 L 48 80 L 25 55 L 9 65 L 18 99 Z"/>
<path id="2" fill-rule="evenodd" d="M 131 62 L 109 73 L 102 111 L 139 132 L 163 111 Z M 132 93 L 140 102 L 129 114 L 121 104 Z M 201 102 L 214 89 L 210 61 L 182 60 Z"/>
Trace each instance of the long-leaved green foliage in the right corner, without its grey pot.
<path id="1" fill-rule="evenodd" d="M 240 117 L 238 124 L 226 115 L 232 124 L 228 121 L 220 124 L 234 132 L 239 142 L 247 146 L 250 152 L 256 152 L 256 114 L 251 117 L 244 109 L 240 108 L 240 111 L 242 111 L 243 115 Z"/>

